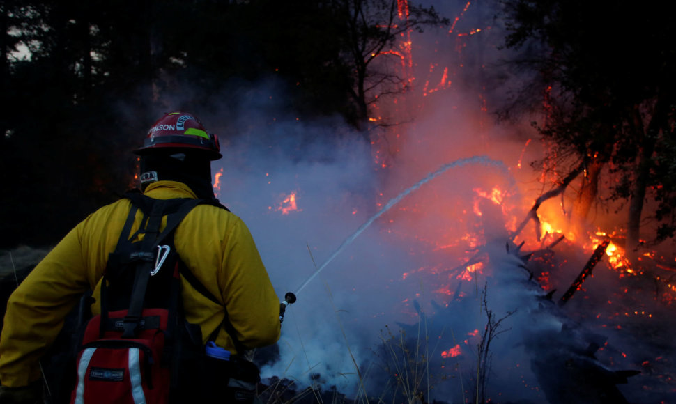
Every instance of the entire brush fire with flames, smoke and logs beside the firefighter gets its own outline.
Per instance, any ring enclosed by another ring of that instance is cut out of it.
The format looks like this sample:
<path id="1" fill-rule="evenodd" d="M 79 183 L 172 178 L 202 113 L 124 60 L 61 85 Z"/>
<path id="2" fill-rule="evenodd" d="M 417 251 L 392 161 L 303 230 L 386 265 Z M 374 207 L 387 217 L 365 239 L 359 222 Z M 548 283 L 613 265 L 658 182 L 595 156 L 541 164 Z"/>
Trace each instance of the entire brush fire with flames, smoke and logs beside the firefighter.
<path id="1" fill-rule="evenodd" d="M 458 4 L 431 51 L 410 30 L 373 55 L 401 81 L 369 106 L 369 144 L 300 157 L 295 145 L 291 162 L 233 139 L 236 157 L 213 167 L 215 194 L 251 229 L 279 295 L 298 294 L 261 364 L 261 398 L 676 402 L 673 251 L 632 258 L 615 206 L 576 222 L 584 173 L 565 178 L 572 170 L 544 160 L 551 145 L 532 128 L 493 127 L 486 89 L 461 84 L 468 65 L 488 63 L 468 49 L 491 26 L 476 2 Z M 405 21 L 408 1 L 396 11 Z M 324 130 L 255 105 L 231 114 L 245 134 L 258 122 L 270 139 Z"/>

